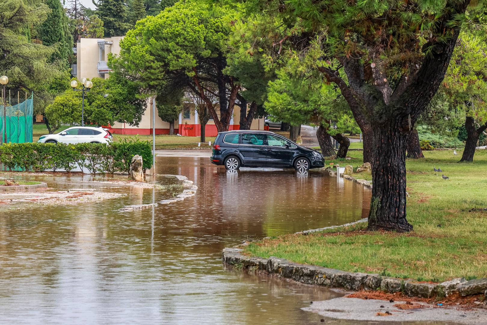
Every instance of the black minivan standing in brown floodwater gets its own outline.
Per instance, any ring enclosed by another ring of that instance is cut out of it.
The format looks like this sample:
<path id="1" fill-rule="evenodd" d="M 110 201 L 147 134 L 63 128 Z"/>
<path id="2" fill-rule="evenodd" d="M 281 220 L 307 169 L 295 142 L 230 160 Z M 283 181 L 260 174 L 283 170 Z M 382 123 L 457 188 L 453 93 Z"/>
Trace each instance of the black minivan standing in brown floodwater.
<path id="1" fill-rule="evenodd" d="M 220 132 L 210 159 L 213 164 L 224 165 L 229 170 L 275 167 L 307 171 L 324 166 L 323 155 L 318 151 L 269 131 Z"/>

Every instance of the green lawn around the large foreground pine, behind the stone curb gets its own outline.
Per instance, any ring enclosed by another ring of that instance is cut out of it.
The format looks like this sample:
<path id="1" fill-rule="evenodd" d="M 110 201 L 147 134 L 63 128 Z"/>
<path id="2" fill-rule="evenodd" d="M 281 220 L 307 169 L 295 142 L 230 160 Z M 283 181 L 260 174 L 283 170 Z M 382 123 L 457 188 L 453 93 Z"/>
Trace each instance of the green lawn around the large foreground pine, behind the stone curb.
<path id="1" fill-rule="evenodd" d="M 354 158 L 347 164 L 356 167 L 357 154 L 361 153 L 351 153 Z M 413 232 L 369 232 L 362 224 L 338 233 L 271 238 L 246 250 L 256 256 L 418 281 L 487 277 L 487 212 L 468 211 L 487 207 L 487 151 L 477 151 L 470 164 L 457 163 L 461 152 L 424 154 L 426 158 L 406 163 L 411 195 L 407 213 Z M 433 166 L 450 180 L 433 172 Z M 371 179 L 370 174 L 354 176 Z"/>

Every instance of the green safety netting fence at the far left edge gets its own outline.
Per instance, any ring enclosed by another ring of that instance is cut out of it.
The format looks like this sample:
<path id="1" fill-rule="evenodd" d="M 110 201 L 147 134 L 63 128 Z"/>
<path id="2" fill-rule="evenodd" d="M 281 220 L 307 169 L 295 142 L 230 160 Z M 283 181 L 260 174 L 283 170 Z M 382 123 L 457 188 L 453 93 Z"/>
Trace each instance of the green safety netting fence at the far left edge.
<path id="1" fill-rule="evenodd" d="M 24 101 L 7 96 L 6 106 L 0 99 L 0 121 L 2 143 L 32 142 L 32 125 L 34 123 L 34 94 Z M 7 139 L 5 140 L 5 120 L 7 121 Z"/>

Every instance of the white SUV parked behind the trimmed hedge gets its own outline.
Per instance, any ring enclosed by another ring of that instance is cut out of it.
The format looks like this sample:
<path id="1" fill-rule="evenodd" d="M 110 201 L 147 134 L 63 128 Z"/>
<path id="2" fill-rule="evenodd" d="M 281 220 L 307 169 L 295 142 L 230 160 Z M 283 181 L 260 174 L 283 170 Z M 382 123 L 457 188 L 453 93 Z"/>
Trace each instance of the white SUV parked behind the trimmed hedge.
<path id="1" fill-rule="evenodd" d="M 74 126 L 57 134 L 42 135 L 39 143 L 109 143 L 112 134 L 108 129 L 94 128 L 91 126 Z"/>

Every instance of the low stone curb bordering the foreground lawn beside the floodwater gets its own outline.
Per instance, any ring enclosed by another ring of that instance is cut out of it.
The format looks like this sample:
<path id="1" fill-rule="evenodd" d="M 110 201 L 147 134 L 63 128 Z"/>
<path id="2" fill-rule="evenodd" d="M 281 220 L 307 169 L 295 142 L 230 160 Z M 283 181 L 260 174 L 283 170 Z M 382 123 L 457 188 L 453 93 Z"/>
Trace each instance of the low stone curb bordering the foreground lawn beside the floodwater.
<path id="1" fill-rule="evenodd" d="M 461 296 L 484 293 L 487 294 L 487 278 L 467 281 L 457 278 L 440 284 L 417 283 L 379 274 L 353 273 L 333 268 L 323 268 L 291 262 L 271 256 L 269 258 L 249 257 L 242 254 L 243 249 L 225 248 L 222 260 L 225 264 L 243 269 L 274 274 L 300 283 L 342 287 L 348 290 L 383 290 L 389 293 L 402 291 L 410 297 L 431 298 L 433 296 L 450 295 L 453 292 Z"/>

